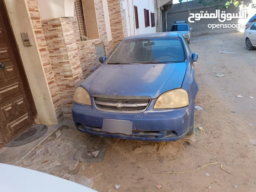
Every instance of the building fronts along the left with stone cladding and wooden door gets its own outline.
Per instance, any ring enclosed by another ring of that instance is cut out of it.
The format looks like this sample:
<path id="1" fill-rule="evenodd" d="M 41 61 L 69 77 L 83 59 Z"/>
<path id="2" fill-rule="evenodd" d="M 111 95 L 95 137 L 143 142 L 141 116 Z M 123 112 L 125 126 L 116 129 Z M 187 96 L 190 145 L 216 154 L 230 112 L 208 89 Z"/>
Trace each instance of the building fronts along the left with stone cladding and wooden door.
<path id="1" fill-rule="evenodd" d="M 154 1 L 131 2 L 0 0 L 0 147 L 33 124 L 71 117 L 75 89 L 98 58 L 126 36 L 155 32 Z"/>

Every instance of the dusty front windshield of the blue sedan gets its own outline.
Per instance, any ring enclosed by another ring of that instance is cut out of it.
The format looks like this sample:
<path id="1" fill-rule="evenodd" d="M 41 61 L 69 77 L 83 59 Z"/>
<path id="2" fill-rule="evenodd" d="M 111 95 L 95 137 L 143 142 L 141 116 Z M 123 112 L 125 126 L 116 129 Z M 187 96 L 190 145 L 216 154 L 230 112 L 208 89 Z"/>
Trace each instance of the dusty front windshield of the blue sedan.
<path id="1" fill-rule="evenodd" d="M 107 64 L 184 62 L 184 49 L 178 37 L 145 38 L 122 41 Z"/>

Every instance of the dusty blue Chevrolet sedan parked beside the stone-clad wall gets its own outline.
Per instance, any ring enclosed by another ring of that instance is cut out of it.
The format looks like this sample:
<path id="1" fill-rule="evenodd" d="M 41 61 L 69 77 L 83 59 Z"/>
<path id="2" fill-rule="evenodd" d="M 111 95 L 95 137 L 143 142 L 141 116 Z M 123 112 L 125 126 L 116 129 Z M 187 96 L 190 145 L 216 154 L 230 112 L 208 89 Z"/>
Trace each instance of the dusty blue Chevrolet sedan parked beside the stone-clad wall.
<path id="1" fill-rule="evenodd" d="M 116 46 L 74 94 L 80 132 L 175 141 L 194 133 L 198 85 L 192 53 L 177 32 L 134 35 Z"/>

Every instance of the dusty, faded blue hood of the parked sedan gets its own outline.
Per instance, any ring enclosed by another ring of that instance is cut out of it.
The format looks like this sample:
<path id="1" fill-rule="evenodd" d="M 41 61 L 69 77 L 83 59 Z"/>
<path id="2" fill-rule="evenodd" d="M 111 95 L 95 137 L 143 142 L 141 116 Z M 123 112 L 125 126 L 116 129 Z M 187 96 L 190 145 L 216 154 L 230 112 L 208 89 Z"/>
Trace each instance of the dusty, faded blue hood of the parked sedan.
<path id="1" fill-rule="evenodd" d="M 90 95 L 151 96 L 180 88 L 187 64 L 118 64 L 104 65 L 82 84 Z"/>

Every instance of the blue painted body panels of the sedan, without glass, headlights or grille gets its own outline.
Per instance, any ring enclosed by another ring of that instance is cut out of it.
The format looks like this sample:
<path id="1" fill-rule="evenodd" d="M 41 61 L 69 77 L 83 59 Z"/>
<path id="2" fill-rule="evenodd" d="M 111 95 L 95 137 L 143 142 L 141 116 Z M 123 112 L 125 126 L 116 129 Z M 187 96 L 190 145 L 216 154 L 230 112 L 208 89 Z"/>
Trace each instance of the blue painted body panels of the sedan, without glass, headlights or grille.
<path id="1" fill-rule="evenodd" d="M 178 36 L 185 44 L 185 39 L 179 33 L 157 33 L 130 36 L 133 38 L 152 38 Z M 88 90 L 91 99 L 93 94 L 151 96 L 152 101 L 145 112 L 124 114 L 103 112 L 92 106 L 73 103 L 72 116 L 81 132 L 100 136 L 110 136 L 124 139 L 174 141 L 186 135 L 193 128 L 194 100 L 198 92 L 195 81 L 193 60 L 190 50 L 186 49 L 186 61 L 170 64 L 128 64 L 103 65 L 91 74 L 82 84 Z M 189 106 L 180 109 L 155 110 L 156 98 L 175 88 L 183 88 L 188 92 Z M 132 130 L 159 131 L 156 138 L 139 138 L 133 135 L 95 132 L 93 128 L 102 128 L 104 118 L 129 120 L 133 122 Z M 176 137 L 167 137 L 168 131 L 175 131 Z"/>

